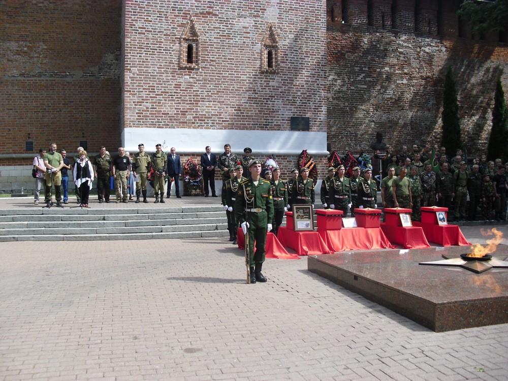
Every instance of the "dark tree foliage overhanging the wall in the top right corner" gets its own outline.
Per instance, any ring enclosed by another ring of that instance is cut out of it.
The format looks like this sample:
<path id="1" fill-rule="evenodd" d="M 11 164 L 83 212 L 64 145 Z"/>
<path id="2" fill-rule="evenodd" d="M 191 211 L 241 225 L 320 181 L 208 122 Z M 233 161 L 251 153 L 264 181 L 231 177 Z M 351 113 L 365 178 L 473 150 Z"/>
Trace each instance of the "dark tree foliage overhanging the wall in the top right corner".
<path id="1" fill-rule="evenodd" d="M 498 33 L 506 27 L 508 0 L 466 0 L 457 15 L 470 22 L 473 33 Z"/>

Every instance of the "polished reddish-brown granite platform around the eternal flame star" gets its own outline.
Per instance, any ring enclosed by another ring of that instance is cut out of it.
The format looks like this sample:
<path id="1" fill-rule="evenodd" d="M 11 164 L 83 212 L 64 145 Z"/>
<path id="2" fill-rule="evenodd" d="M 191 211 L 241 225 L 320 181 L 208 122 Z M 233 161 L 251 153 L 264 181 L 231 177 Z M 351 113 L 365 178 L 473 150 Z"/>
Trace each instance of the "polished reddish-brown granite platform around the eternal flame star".
<path id="1" fill-rule="evenodd" d="M 508 269 L 477 274 L 419 265 L 468 251 L 469 246 L 343 251 L 310 256 L 307 268 L 435 332 L 508 323 Z M 499 245 L 492 255 L 506 259 L 508 246 Z"/>

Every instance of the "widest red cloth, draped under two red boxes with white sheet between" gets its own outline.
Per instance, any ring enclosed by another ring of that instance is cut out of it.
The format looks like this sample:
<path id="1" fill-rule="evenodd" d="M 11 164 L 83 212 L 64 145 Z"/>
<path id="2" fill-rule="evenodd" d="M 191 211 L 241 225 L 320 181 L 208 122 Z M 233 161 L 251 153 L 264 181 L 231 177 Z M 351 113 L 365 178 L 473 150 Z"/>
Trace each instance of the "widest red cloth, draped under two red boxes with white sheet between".
<path id="1" fill-rule="evenodd" d="M 396 248 L 381 228 L 317 229 L 328 248 L 335 251 Z"/>

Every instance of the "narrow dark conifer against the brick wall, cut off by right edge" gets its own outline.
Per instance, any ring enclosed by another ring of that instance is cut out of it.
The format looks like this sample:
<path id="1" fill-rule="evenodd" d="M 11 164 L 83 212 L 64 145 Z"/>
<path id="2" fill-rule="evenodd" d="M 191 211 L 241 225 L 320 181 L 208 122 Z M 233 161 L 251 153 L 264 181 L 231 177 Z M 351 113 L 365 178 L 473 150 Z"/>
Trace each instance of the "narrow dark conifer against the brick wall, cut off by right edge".
<path id="1" fill-rule="evenodd" d="M 490 132 L 489 146 L 487 148 L 488 160 L 501 158 L 503 163 L 508 162 L 508 126 L 506 125 L 506 102 L 501 79 L 497 81 L 494 95 L 494 108 L 492 109 L 492 130 Z"/>

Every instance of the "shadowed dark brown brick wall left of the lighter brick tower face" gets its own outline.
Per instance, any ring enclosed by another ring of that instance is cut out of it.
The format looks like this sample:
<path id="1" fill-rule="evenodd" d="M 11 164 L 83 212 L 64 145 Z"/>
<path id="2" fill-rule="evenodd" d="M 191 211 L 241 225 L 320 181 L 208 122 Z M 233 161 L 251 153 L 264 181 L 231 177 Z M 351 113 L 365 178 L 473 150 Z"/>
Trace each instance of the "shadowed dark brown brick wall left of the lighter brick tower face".
<path id="1" fill-rule="evenodd" d="M 30 153 L 26 140 L 34 153 L 52 141 L 70 152 L 80 140 L 116 150 L 121 8 L 120 0 L 0 2 L 0 154 Z"/>

